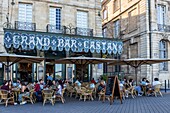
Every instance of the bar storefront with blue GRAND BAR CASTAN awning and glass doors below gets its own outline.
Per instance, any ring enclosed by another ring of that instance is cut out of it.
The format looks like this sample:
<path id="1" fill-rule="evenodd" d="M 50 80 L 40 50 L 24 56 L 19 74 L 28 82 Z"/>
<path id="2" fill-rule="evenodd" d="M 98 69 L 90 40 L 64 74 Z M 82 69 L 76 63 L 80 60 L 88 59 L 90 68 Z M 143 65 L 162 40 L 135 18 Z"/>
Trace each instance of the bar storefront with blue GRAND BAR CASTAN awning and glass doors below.
<path id="1" fill-rule="evenodd" d="M 52 64 L 53 60 L 81 55 L 102 57 L 103 54 L 116 55 L 123 51 L 123 43 L 117 39 L 15 29 L 4 29 L 4 47 L 8 53 L 45 58 L 40 64 L 16 63 L 11 66 L 11 79 L 21 78 L 30 82 L 40 78 L 46 80 L 49 75 L 54 79 L 76 76 L 73 73 L 73 70 L 78 70 L 76 65 Z M 92 76 L 90 65 L 87 75 L 88 80 Z"/>

